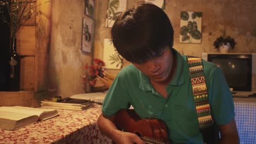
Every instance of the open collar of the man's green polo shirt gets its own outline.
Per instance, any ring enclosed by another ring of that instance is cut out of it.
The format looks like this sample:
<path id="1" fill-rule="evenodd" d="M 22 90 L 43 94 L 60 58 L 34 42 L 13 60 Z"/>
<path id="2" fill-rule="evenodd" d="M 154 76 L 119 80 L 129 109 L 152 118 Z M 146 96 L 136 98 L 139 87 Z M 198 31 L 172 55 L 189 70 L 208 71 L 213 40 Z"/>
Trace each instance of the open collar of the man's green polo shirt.
<path id="1" fill-rule="evenodd" d="M 176 56 L 177 58 L 177 68 L 176 68 L 176 72 L 173 80 L 168 85 L 179 86 L 184 83 L 184 77 L 183 77 L 184 60 L 178 51 L 176 51 L 175 49 L 172 49 L 172 51 L 174 52 L 174 56 Z M 142 74 L 141 71 L 139 71 L 139 79 L 141 80 L 139 84 L 140 89 L 142 89 L 143 91 L 153 90 L 153 86 L 150 83 L 149 78 L 146 75 Z"/>

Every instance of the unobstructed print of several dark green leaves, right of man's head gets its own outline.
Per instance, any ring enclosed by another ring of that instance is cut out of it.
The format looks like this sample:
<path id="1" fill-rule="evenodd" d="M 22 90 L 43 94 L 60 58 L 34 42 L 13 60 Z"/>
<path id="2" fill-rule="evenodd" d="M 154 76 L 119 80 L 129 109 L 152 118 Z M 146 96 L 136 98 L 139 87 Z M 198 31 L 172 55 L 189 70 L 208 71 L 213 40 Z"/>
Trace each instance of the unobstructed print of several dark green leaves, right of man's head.
<path id="1" fill-rule="evenodd" d="M 201 43 L 202 12 L 181 12 L 180 43 Z"/>

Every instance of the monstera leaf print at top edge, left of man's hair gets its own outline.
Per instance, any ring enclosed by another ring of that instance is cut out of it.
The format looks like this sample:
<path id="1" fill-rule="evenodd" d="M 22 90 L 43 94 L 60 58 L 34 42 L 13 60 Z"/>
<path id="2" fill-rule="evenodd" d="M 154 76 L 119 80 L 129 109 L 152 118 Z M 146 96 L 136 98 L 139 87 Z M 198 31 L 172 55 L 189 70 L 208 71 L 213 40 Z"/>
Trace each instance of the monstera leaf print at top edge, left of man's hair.
<path id="1" fill-rule="evenodd" d="M 106 27 L 112 27 L 117 16 L 126 10 L 127 0 L 109 0 L 108 2 Z"/>

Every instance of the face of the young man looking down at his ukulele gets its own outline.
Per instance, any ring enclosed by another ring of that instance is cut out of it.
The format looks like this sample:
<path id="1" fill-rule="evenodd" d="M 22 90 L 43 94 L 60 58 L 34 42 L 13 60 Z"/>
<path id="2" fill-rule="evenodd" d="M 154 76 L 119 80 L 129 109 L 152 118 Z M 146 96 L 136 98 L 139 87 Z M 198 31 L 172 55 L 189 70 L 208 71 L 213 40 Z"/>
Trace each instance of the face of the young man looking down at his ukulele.
<path id="1" fill-rule="evenodd" d="M 141 63 L 133 63 L 133 65 L 148 76 L 151 82 L 164 83 L 171 80 L 172 62 L 172 51 L 170 46 L 166 46 L 159 56 Z"/>

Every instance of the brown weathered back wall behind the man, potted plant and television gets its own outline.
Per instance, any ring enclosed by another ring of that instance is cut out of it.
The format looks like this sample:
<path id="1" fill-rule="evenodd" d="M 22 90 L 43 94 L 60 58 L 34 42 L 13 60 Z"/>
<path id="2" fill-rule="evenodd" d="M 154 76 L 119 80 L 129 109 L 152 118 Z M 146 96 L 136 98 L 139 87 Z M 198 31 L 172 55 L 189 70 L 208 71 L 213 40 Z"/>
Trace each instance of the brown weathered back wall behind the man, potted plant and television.
<path id="1" fill-rule="evenodd" d="M 135 0 L 127 0 L 130 8 Z M 256 52 L 255 0 L 166 0 L 165 12 L 174 28 L 174 48 L 185 55 L 201 56 L 202 52 L 217 52 L 213 42 L 226 34 L 235 38 L 237 45 L 231 52 Z M 95 57 L 103 57 L 103 39 L 110 38 L 110 28 L 104 27 L 107 1 L 97 1 Z M 202 12 L 202 43 L 179 43 L 181 11 Z"/>

